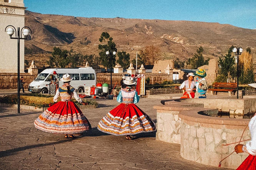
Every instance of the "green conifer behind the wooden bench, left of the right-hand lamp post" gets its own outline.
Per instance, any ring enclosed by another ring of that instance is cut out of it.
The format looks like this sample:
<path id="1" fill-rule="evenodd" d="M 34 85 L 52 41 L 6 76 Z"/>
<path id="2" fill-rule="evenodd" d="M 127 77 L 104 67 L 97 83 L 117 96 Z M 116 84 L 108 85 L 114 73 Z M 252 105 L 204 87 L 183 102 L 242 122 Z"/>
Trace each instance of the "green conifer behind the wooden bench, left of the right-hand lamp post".
<path id="1" fill-rule="evenodd" d="M 236 77 L 236 67 L 235 67 L 235 58 L 232 56 L 232 49 L 234 46 L 232 45 L 228 49 L 228 53 L 224 56 L 224 58 L 219 57 L 219 70 L 218 77 L 216 78 L 217 82 L 231 82 L 231 79 Z"/>

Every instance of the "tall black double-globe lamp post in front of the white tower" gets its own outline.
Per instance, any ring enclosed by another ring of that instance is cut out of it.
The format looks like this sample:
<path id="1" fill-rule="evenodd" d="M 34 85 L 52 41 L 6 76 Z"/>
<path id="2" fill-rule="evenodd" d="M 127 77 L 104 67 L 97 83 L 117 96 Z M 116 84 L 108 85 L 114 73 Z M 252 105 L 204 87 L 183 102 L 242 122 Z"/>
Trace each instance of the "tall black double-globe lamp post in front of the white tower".
<path id="1" fill-rule="evenodd" d="M 27 40 L 27 37 L 30 33 L 32 33 L 31 29 L 29 27 L 23 27 L 20 30 L 20 27 L 18 27 L 17 31 L 12 25 L 8 25 L 5 27 L 5 32 L 10 36 L 10 39 L 16 39 L 18 41 L 17 45 L 17 53 L 18 53 L 18 60 L 17 60 L 17 90 L 18 90 L 18 113 L 20 113 L 20 40 Z M 22 38 L 22 34 L 24 35 L 24 38 Z M 12 35 L 15 33 L 15 37 L 12 37 Z"/>

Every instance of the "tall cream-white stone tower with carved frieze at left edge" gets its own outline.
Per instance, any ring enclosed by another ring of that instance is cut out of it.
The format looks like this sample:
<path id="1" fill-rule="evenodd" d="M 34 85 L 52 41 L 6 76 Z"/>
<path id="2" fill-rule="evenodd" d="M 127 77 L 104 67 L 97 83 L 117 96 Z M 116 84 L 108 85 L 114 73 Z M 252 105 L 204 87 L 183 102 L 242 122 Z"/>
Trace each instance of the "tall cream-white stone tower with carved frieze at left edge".
<path id="1" fill-rule="evenodd" d="M 25 9 L 23 0 L 0 0 L 0 73 L 17 73 L 17 40 L 10 39 L 4 30 L 8 25 L 16 31 L 18 27 L 22 29 Z M 24 73 L 24 40 L 20 40 L 20 72 Z"/>

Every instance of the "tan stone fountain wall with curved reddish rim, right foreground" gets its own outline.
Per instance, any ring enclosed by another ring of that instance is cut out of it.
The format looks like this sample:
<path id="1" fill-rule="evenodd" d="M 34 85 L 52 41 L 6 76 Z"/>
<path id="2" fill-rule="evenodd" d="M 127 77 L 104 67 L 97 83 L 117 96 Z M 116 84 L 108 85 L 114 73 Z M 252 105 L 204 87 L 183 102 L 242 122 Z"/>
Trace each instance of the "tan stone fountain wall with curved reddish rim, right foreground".
<path id="1" fill-rule="evenodd" d="M 187 160 L 218 166 L 221 159 L 234 151 L 235 146 L 222 144 L 239 141 L 250 120 L 211 117 L 209 115 L 216 116 L 218 109 L 204 108 L 203 103 L 178 101 L 154 106 L 157 109 L 156 140 L 179 143 L 180 154 Z M 242 140 L 249 138 L 247 128 Z M 222 167 L 235 169 L 247 156 L 247 153 L 232 154 L 222 162 Z"/>

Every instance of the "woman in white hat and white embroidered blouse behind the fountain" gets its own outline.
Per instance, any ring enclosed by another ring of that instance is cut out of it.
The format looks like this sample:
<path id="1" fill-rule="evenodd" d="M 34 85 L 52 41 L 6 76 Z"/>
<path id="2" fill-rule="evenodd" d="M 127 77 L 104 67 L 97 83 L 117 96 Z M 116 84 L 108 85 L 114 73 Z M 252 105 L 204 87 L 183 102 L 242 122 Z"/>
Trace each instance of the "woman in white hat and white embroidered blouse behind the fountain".
<path id="1" fill-rule="evenodd" d="M 186 91 L 181 97 L 181 99 L 189 99 L 195 97 L 194 91 L 196 82 L 194 81 L 194 76 L 194 73 L 188 73 L 188 80 L 185 80 L 179 87 L 175 86 L 176 89 L 183 89 L 184 87 L 186 88 Z"/>

